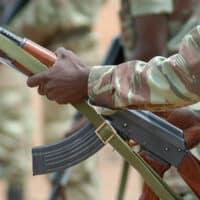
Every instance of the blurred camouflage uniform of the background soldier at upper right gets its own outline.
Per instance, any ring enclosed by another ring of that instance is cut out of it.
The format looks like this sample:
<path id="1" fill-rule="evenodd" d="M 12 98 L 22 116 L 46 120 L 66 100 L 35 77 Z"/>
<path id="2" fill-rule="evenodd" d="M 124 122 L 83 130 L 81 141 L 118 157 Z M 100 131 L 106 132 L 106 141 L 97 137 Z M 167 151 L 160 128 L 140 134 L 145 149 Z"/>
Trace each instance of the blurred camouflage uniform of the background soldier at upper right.
<path id="1" fill-rule="evenodd" d="M 126 58 L 133 55 L 137 35 L 133 20 L 138 16 L 149 14 L 168 15 L 169 36 L 167 43 L 168 55 L 178 51 L 184 35 L 199 24 L 200 12 L 198 0 L 121 0 L 122 45 Z M 181 9 L 181 10 L 180 10 Z M 153 40 L 153 38 L 152 38 Z M 153 42 L 152 42 L 153 43 Z M 195 106 L 196 107 L 196 106 Z M 171 175 L 170 175 L 171 173 Z M 169 170 L 165 179 L 179 193 L 185 193 L 187 186 L 182 179 L 175 176 L 174 170 Z M 178 176 L 178 174 L 177 174 Z M 175 186 L 175 187 L 174 187 Z M 187 198 L 189 199 L 189 198 Z"/>

